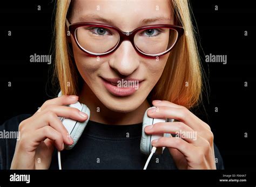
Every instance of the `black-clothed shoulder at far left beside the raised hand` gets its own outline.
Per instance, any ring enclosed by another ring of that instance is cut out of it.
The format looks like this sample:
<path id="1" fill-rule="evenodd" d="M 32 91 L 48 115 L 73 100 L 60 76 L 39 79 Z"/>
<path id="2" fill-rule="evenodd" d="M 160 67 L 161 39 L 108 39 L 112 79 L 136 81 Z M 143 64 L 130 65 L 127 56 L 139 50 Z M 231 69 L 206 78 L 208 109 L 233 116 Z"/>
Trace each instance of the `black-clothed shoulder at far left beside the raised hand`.
<path id="1" fill-rule="evenodd" d="M 10 169 L 14 156 L 19 124 L 32 114 L 20 114 L 0 125 L 0 169 Z"/>

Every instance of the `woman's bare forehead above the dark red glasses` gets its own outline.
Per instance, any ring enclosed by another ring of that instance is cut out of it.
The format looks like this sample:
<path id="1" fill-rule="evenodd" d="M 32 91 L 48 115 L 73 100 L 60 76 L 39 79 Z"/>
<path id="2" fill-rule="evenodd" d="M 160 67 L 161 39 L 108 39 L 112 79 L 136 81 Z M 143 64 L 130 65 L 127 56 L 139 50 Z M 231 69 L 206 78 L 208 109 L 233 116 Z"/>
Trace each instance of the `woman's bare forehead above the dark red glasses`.
<path id="1" fill-rule="evenodd" d="M 148 24 L 173 24 L 173 10 L 169 0 L 73 1 L 71 16 L 73 23 L 111 21 L 110 24 L 124 31 Z M 105 20 L 97 19 L 99 17 Z"/>

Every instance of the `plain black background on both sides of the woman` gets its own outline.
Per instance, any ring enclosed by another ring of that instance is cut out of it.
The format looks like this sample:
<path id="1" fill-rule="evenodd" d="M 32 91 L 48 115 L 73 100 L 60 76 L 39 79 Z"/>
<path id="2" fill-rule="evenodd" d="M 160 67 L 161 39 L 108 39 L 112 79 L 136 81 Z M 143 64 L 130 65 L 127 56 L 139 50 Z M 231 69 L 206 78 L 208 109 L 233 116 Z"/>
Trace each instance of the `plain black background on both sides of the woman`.
<path id="1" fill-rule="evenodd" d="M 208 92 L 204 106 L 194 112 L 211 126 L 226 169 L 256 168 L 253 2 L 191 1 Z M 55 1 L 1 2 L 0 124 L 18 114 L 35 113 L 45 100 L 55 97 L 58 88 L 51 84 L 53 62 L 29 61 L 35 53 L 51 53 L 54 5 Z M 206 63 L 205 55 L 210 53 L 227 55 L 227 64 Z"/>

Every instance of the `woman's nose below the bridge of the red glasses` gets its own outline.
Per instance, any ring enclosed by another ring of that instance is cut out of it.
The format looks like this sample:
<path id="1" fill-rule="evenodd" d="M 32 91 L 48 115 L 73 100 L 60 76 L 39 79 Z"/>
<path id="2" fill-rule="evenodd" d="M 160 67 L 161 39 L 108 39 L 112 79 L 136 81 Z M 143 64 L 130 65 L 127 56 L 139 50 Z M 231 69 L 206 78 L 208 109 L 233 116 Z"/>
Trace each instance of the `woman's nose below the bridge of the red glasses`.
<path id="1" fill-rule="evenodd" d="M 109 64 L 119 74 L 128 76 L 139 67 L 139 55 L 133 48 L 131 42 L 124 40 L 111 55 Z"/>

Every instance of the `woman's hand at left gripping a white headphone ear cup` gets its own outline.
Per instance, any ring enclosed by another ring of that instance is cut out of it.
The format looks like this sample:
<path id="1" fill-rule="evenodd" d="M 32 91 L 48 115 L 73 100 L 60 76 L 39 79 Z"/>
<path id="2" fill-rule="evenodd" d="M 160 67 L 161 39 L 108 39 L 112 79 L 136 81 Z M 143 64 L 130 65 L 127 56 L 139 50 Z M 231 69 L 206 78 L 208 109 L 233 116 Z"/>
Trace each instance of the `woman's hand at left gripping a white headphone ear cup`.
<path id="1" fill-rule="evenodd" d="M 73 140 L 58 117 L 85 121 L 87 115 L 69 106 L 78 101 L 78 96 L 61 96 L 46 100 L 40 110 L 19 124 L 11 169 L 49 169 L 54 148 L 64 149 Z"/>

